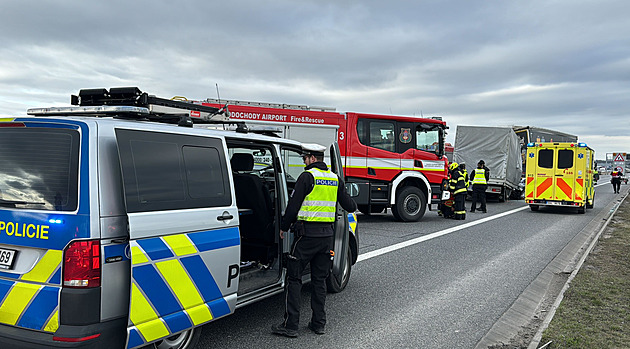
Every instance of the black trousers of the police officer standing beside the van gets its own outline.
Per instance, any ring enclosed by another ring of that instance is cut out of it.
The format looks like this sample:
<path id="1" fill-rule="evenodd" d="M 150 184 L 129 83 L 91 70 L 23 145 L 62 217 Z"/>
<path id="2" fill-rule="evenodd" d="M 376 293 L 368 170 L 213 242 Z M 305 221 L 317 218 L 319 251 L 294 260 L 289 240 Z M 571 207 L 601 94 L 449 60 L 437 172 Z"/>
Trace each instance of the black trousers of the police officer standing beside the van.
<path id="1" fill-rule="evenodd" d="M 311 264 L 311 323 L 315 328 L 326 325 L 326 278 L 332 266 L 330 251 L 333 237 L 296 237 L 291 254 L 287 259 L 287 285 L 285 289 L 286 311 L 284 326 L 297 330 L 300 322 L 302 274 Z"/>

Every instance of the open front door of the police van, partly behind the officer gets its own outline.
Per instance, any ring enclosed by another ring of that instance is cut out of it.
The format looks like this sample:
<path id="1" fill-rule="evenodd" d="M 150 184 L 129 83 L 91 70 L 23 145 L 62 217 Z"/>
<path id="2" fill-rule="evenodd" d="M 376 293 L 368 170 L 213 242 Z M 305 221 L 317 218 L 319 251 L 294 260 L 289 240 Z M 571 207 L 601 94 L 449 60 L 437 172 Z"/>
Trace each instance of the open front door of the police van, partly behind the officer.
<path id="1" fill-rule="evenodd" d="M 341 161 L 341 155 L 339 153 L 339 145 L 335 142 L 330 146 L 330 170 L 337 174 L 339 178 L 343 178 L 343 166 Z M 348 212 L 341 208 L 337 204 L 337 212 L 335 214 L 335 243 L 333 251 L 335 251 L 335 258 L 333 259 L 332 274 L 337 280 L 339 285 L 342 285 L 344 270 L 346 266 L 346 260 L 348 259 L 349 246 L 349 225 L 348 225 Z M 348 277 L 348 275 L 346 275 Z"/>

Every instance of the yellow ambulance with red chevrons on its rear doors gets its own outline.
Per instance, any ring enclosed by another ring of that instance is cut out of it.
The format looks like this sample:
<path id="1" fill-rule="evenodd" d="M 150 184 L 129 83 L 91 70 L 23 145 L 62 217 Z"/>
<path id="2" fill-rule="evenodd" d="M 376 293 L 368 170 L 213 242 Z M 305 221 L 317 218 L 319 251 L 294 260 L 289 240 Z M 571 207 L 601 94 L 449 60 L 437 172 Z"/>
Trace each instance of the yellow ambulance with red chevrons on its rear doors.
<path id="1" fill-rule="evenodd" d="M 595 152 L 585 143 L 527 144 L 525 202 L 540 206 L 593 208 Z"/>

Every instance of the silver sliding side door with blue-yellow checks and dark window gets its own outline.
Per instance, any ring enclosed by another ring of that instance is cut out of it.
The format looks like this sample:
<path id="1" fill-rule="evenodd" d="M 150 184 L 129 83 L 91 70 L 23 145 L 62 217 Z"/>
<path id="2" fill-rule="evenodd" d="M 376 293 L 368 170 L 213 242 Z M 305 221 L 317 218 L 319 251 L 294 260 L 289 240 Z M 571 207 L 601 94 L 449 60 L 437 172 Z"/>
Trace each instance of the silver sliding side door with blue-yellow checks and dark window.
<path id="1" fill-rule="evenodd" d="M 238 210 L 220 138 L 116 129 L 129 221 L 128 347 L 230 314 Z"/>

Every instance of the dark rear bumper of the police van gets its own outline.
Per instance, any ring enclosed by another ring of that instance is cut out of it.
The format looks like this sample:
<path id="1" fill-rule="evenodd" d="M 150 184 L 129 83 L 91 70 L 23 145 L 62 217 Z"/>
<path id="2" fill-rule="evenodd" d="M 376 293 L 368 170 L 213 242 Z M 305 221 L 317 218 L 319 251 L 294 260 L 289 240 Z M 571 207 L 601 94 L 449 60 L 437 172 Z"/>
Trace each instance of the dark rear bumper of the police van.
<path id="1" fill-rule="evenodd" d="M 0 348 L 124 348 L 127 340 L 127 319 L 116 319 L 88 326 L 62 325 L 53 334 L 0 324 Z M 53 340 L 65 338 L 98 337 L 80 342 Z"/>

